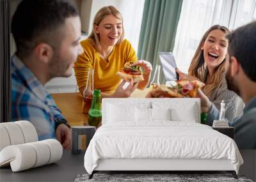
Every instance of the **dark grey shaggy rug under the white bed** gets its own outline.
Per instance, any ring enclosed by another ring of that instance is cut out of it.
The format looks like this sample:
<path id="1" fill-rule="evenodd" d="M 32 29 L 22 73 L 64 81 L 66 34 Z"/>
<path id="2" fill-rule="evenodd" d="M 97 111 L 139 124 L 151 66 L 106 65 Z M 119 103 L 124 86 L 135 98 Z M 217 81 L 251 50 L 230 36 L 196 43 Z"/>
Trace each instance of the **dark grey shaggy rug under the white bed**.
<path id="1" fill-rule="evenodd" d="M 89 174 L 78 175 L 75 182 L 85 182 L 85 181 L 210 181 L 210 182 L 220 182 L 220 181 L 250 181 L 251 179 L 246 179 L 244 176 L 239 176 L 238 179 L 234 179 L 232 174 L 94 174 L 92 179 L 88 179 Z"/>

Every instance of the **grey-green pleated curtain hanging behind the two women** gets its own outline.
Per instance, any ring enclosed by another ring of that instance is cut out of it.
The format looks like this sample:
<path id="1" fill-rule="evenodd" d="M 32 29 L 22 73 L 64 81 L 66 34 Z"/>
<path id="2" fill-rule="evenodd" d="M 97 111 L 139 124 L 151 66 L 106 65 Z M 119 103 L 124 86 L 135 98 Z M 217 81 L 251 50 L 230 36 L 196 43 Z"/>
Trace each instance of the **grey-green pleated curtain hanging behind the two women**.
<path id="1" fill-rule="evenodd" d="M 145 0 L 141 22 L 138 58 L 159 63 L 159 51 L 172 52 L 179 22 L 182 0 Z M 164 84 L 163 68 L 160 82 Z"/>

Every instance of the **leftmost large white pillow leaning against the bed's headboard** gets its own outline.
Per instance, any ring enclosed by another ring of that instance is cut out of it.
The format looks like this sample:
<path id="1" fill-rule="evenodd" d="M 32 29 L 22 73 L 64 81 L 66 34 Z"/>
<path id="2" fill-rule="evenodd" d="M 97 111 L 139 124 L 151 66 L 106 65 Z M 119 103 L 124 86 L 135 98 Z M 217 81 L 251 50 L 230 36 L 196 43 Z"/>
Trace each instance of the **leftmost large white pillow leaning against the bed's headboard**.
<path id="1" fill-rule="evenodd" d="M 135 107 L 109 104 L 107 122 L 118 121 L 135 121 Z"/>

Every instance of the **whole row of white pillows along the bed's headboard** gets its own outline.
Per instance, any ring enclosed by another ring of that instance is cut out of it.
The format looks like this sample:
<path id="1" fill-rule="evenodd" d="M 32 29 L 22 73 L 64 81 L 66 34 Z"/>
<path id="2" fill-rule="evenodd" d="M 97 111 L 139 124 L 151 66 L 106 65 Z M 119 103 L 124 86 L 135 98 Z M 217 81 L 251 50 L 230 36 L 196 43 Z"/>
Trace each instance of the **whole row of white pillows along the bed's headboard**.
<path id="1" fill-rule="evenodd" d="M 199 121 L 196 100 L 182 100 L 177 102 L 153 101 L 140 103 L 108 103 L 107 123 L 122 122 L 150 122 L 150 121 Z"/>

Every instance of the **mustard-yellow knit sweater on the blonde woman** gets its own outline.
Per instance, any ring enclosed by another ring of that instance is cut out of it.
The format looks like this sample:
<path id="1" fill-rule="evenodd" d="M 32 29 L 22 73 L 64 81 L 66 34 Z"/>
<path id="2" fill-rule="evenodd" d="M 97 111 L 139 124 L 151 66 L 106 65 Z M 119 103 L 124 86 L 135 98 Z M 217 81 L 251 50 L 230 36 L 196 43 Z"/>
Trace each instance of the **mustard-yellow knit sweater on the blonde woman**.
<path id="1" fill-rule="evenodd" d="M 104 60 L 92 45 L 92 40 L 86 39 L 81 42 L 84 53 L 77 58 L 75 63 L 75 75 L 80 93 L 86 87 L 87 73 L 90 68 L 94 69 L 94 89 L 100 89 L 105 93 L 113 93 L 120 82 L 116 72 L 123 68 L 127 61 L 137 61 L 134 49 L 128 40 L 115 45 L 113 51 Z"/>

